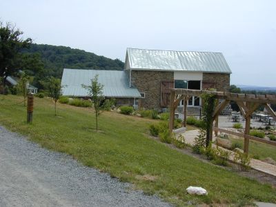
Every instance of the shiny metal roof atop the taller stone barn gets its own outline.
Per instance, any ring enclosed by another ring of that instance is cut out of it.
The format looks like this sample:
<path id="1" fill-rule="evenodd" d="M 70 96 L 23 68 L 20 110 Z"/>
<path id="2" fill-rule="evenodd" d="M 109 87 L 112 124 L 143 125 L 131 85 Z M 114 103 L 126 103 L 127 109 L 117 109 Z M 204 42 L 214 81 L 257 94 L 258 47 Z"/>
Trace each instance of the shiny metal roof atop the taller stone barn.
<path id="1" fill-rule="evenodd" d="M 232 73 L 221 52 L 127 48 L 126 69 Z"/>

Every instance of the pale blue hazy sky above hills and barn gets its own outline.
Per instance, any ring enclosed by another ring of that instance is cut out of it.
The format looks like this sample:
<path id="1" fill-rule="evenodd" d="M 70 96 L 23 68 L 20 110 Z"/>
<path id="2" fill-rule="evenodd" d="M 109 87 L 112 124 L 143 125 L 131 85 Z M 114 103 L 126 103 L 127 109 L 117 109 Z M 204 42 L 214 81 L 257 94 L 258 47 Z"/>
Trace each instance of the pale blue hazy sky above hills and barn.
<path id="1" fill-rule="evenodd" d="M 125 61 L 126 48 L 222 52 L 230 83 L 276 86 L 275 0 L 0 0 L 34 43 Z"/>

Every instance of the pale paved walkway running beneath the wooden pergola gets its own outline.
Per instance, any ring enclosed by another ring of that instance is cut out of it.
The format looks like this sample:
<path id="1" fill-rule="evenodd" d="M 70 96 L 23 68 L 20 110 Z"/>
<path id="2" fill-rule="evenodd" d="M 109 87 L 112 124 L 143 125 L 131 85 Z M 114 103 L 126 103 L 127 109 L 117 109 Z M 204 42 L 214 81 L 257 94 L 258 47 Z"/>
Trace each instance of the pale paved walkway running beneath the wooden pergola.
<path id="1" fill-rule="evenodd" d="M 193 145 L 194 141 L 195 141 L 195 137 L 197 137 L 198 133 L 199 133 L 199 130 L 189 130 L 189 131 L 184 132 L 182 135 L 184 135 L 184 138 L 185 138 L 187 144 Z M 225 148 L 222 148 L 222 149 L 226 150 Z M 230 150 L 228 150 L 228 151 L 230 151 Z M 235 152 L 233 152 L 233 151 L 230 151 L 230 152 L 231 152 L 231 155 L 230 155 L 229 159 L 231 161 L 233 161 L 233 159 L 234 159 L 233 155 Z M 260 172 L 265 172 L 268 175 L 273 175 L 274 177 L 276 177 L 276 166 L 273 164 L 268 164 L 268 163 L 266 163 L 264 161 L 260 161 L 258 159 L 251 159 L 250 166 L 251 166 L 251 168 L 253 168 L 255 170 L 258 170 Z"/>

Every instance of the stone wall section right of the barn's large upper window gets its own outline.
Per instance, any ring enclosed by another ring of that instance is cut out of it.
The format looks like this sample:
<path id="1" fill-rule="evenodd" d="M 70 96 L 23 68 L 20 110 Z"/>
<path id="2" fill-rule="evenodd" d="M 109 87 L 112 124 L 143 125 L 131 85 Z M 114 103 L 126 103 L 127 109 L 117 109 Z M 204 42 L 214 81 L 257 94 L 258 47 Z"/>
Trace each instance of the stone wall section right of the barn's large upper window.
<path id="1" fill-rule="evenodd" d="M 230 74 L 203 73 L 202 89 L 215 88 L 217 91 L 228 91 L 230 88 Z"/>

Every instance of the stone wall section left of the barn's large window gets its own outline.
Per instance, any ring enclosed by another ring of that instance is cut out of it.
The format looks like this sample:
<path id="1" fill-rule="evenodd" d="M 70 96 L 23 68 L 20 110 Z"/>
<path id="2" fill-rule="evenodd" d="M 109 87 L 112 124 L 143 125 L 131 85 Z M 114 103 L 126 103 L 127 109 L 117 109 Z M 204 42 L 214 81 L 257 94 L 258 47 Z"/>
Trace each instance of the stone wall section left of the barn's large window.
<path id="1" fill-rule="evenodd" d="M 161 92 L 161 81 L 172 81 L 173 72 L 170 71 L 148 71 L 132 70 L 131 84 L 139 92 L 145 92 L 145 98 L 141 99 L 140 106 L 148 109 L 159 109 Z"/>

